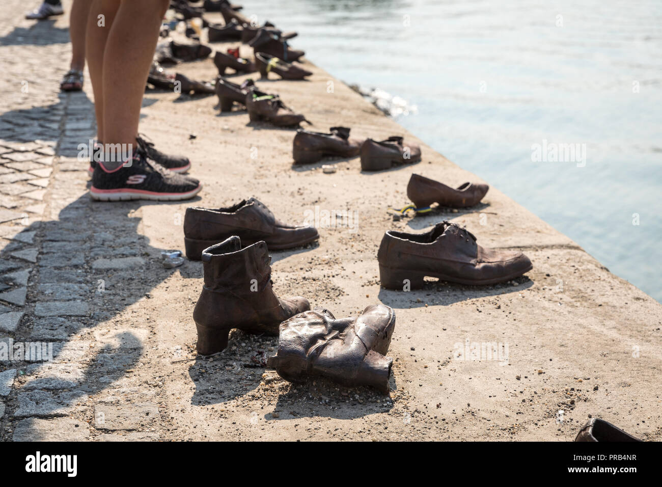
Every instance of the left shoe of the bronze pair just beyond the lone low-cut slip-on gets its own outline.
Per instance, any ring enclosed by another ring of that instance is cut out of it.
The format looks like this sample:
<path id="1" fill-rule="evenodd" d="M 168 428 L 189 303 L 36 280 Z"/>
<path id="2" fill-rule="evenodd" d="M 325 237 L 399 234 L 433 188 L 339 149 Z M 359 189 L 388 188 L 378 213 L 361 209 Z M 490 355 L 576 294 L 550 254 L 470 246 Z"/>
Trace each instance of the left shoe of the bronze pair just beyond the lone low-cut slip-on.
<path id="1" fill-rule="evenodd" d="M 355 157 L 361 143 L 350 138 L 347 127 L 331 127 L 328 134 L 299 129 L 294 136 L 292 156 L 297 164 L 311 164 L 323 156 Z"/>

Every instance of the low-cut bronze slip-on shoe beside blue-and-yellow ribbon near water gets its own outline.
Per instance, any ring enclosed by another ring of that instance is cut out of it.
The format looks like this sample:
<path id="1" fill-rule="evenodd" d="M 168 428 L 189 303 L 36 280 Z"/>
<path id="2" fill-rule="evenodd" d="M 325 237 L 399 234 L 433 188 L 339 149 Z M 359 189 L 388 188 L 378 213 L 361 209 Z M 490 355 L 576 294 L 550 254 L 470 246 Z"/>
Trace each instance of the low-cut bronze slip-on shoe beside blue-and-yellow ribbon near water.
<path id="1" fill-rule="evenodd" d="M 412 174 L 407 185 L 407 196 L 417 208 L 428 207 L 432 203 L 450 208 L 464 208 L 480 203 L 489 188 L 487 184 L 465 183 L 453 189 L 419 174 Z"/>

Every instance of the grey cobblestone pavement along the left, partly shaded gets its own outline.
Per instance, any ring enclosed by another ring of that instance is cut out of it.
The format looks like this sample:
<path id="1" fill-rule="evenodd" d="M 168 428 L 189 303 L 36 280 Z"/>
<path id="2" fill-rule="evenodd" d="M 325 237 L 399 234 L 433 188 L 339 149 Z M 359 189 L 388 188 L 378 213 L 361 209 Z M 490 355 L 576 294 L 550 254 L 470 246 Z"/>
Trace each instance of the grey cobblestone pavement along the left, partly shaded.
<path id="1" fill-rule="evenodd" d="M 60 93 L 70 61 L 66 16 L 28 21 L 26 4 L 11 3 L 0 21 L 0 342 L 5 351 L 30 345 L 23 357 L 0 362 L 0 438 L 87 439 L 89 423 L 111 431 L 159 413 L 151 402 L 93 402 L 140 349 L 138 327 L 119 335 L 93 329 L 111 314 L 105 287 L 144 260 L 127 207 L 92 211 L 85 194 L 77 145 L 95 136 L 95 121 L 91 94 Z M 53 360 L 42 362 L 38 352 Z"/>

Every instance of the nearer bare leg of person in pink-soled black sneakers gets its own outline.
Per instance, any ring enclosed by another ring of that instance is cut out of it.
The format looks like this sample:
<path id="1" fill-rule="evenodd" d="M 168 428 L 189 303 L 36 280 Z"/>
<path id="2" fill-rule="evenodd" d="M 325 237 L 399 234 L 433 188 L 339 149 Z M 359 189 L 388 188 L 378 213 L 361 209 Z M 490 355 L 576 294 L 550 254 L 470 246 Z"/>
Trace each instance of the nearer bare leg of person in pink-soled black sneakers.
<path id="1" fill-rule="evenodd" d="M 103 142 L 136 145 L 142 96 L 168 0 L 121 0 L 103 54 Z"/>

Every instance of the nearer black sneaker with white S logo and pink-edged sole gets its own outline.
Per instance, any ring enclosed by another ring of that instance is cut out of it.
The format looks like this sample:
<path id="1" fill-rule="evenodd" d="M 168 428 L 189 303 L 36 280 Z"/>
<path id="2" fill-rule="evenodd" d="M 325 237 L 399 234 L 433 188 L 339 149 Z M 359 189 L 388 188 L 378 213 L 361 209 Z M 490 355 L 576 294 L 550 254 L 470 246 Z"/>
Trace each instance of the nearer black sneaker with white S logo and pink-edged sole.
<path id="1" fill-rule="evenodd" d="M 192 198 L 201 189 L 198 180 L 167 171 L 148 160 L 142 150 L 138 150 L 132 159 L 115 170 L 107 170 L 103 162 L 97 162 L 89 195 L 100 201 L 174 201 Z"/>

